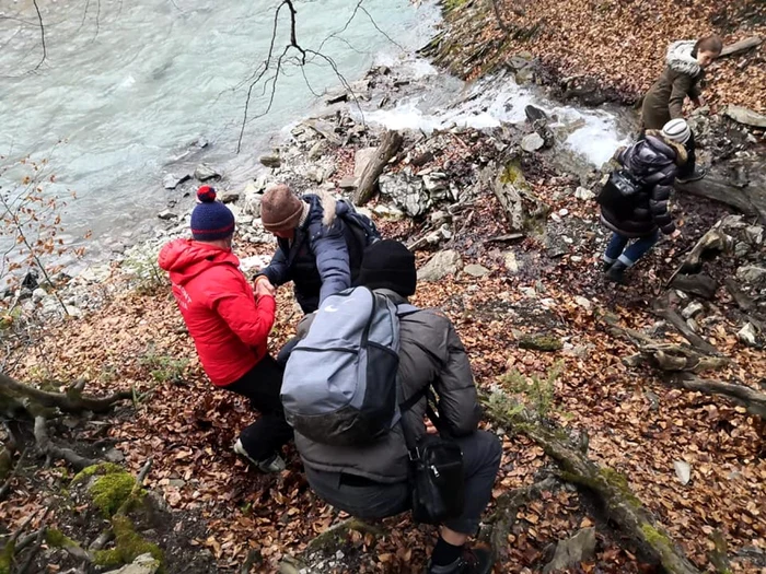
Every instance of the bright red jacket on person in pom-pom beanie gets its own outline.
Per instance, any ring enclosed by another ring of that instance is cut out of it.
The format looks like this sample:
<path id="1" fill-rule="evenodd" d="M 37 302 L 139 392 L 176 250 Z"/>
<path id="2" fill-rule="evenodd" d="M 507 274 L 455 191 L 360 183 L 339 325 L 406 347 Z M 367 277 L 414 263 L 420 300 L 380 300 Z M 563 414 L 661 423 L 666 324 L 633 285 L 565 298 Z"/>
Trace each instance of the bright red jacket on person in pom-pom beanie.
<path id="1" fill-rule="evenodd" d="M 230 250 L 175 239 L 160 251 L 205 372 L 216 386 L 234 383 L 266 354 L 276 303 L 255 300 Z"/>

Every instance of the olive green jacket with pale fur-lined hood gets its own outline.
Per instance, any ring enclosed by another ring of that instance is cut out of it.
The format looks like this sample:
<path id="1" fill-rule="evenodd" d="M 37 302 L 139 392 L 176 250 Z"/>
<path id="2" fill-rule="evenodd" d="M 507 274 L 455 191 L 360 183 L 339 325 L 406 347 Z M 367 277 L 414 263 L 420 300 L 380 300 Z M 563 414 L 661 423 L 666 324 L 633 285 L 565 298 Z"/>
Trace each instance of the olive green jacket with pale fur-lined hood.
<path id="1" fill-rule="evenodd" d="M 661 130 L 671 119 L 683 117 L 687 96 L 699 97 L 699 82 L 705 72 L 692 56 L 694 44 L 694 40 L 675 42 L 668 49 L 668 66 L 643 97 L 645 129 Z"/>

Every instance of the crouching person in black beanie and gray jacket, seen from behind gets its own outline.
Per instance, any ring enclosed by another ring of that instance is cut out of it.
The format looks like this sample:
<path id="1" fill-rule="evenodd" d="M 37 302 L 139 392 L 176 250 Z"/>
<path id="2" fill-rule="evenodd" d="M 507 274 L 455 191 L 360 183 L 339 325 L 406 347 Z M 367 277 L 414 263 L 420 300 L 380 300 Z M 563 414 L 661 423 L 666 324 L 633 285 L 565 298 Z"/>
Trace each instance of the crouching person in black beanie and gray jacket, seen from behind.
<path id="1" fill-rule="evenodd" d="M 453 476 L 456 481 L 455 491 L 460 490 L 463 496 L 460 507 L 453 509 L 453 517 L 441 520 L 440 536 L 429 561 L 428 572 L 488 574 L 492 567 L 489 551 L 471 550 L 465 544 L 468 537 L 477 532 L 481 513 L 491 499 L 502 448 L 497 436 L 478 430 L 481 409 L 471 363 L 454 326 L 438 311 L 418 309 L 408 305 L 407 298 L 415 293 L 416 282 L 415 257 L 402 243 L 385 239 L 368 247 L 359 273 L 359 284 L 372 290 L 373 301 L 378 296 L 386 297 L 388 302 L 384 304 L 388 309 L 393 308 L 394 314 L 398 316 L 398 367 L 394 370 L 391 388 L 396 391 L 398 382 L 398 397 L 393 398 L 398 399 L 397 414 L 401 413 L 401 418 L 395 417 L 393 426 L 385 425 L 376 438 L 371 440 L 370 435 L 373 433 L 370 432 L 360 436 L 358 443 L 347 445 L 311 440 L 295 430 L 295 446 L 314 492 L 333 506 L 361 519 L 384 518 L 413 509 L 414 518 L 418 520 L 417 513 L 423 508 L 420 504 L 418 508 L 414 508 L 414 491 L 421 491 L 416 489 L 411 478 L 410 458 L 416 458 L 415 453 L 422 456 L 431 453 L 434 458 L 429 460 L 433 460 L 438 466 L 440 456 L 449 456 L 450 448 L 456 449 L 459 458 L 462 450 L 462 466 L 457 462 L 455 467 L 451 461 L 441 460 L 445 462 L 445 466 L 440 468 L 442 476 L 448 475 L 450 469 L 457 468 L 460 476 Z M 355 293 L 362 286 L 353 290 L 353 295 L 347 296 L 341 293 L 328 300 L 330 303 L 326 305 L 327 308 L 320 309 L 309 329 L 306 343 L 317 329 L 323 328 L 320 325 L 323 313 L 328 314 L 330 323 L 333 317 L 343 314 L 344 297 L 348 300 L 349 307 L 353 307 L 355 301 L 370 298 L 369 294 Z M 383 312 L 382 316 L 387 315 Z M 373 317 L 379 320 L 370 319 L 371 327 L 364 330 L 362 344 L 368 340 L 368 332 L 372 339 L 384 330 L 381 327 L 381 315 L 373 314 Z M 325 329 L 327 325 L 324 325 Z M 327 335 L 328 339 L 333 339 L 333 344 L 339 344 L 335 331 Z M 376 344 L 376 348 L 380 349 L 381 345 Z M 299 344 L 288 361 L 285 388 L 290 382 L 291 367 L 298 366 L 293 361 L 299 358 L 300 350 Z M 368 348 L 368 352 L 373 352 L 372 347 Z M 315 354 L 306 352 L 304 356 Z M 386 364 L 390 363 L 384 359 L 375 365 L 371 362 L 370 368 L 367 370 L 368 383 L 371 377 L 379 375 Z M 300 378 L 301 372 L 305 373 L 305 370 L 295 370 L 297 377 Z M 334 386 L 337 386 L 339 382 L 334 380 Z M 372 386 L 372 393 L 380 394 L 380 387 L 385 385 Z M 441 440 L 436 435 L 428 435 L 423 423 L 430 389 L 439 397 L 437 426 L 440 429 Z M 300 400 L 302 397 L 293 398 Z M 282 399 L 290 420 L 291 410 L 285 394 Z M 379 406 L 381 400 L 383 399 L 378 398 L 374 406 Z M 327 419 L 328 436 L 345 431 L 346 425 L 338 420 L 345 409 L 341 407 Z M 360 409 L 364 410 L 362 407 Z M 306 427 L 306 432 L 317 433 L 320 421 L 311 422 L 312 425 Z M 442 440 L 445 444 L 442 444 Z M 437 442 L 436 447 L 433 441 Z M 433 468 L 429 465 L 430 462 L 426 467 Z M 439 473 L 436 476 L 439 477 Z M 448 494 L 452 495 L 453 492 L 448 491 Z M 454 492 L 454 495 L 457 496 L 457 492 Z M 446 502 L 449 505 L 454 501 Z"/>

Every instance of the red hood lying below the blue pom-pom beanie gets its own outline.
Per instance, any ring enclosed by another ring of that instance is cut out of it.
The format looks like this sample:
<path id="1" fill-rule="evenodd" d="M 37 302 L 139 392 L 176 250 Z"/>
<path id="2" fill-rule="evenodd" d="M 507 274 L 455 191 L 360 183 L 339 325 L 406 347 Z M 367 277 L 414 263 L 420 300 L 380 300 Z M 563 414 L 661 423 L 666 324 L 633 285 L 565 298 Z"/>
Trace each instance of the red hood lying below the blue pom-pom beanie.
<path id="1" fill-rule="evenodd" d="M 211 267 L 240 267 L 240 260 L 231 250 L 194 239 L 174 239 L 166 244 L 160 250 L 158 263 L 170 273 L 171 281 L 181 285 Z"/>

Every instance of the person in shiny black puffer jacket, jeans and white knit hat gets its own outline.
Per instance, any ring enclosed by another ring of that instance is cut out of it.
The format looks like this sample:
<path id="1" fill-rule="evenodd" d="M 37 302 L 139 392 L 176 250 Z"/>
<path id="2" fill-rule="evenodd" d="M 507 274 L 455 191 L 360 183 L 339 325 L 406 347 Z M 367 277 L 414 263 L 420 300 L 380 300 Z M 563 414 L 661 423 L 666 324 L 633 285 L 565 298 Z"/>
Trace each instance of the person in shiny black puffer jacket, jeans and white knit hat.
<path id="1" fill-rule="evenodd" d="M 685 120 L 672 119 L 662 131 L 647 130 L 643 139 L 615 153 L 623 169 L 610 175 L 596 198 L 601 221 L 613 232 L 603 257 L 610 281 L 624 283 L 626 270 L 654 246 L 660 231 L 674 238 L 681 234 L 668 206 L 690 134 Z"/>

